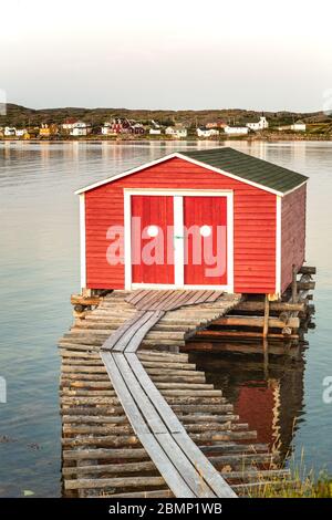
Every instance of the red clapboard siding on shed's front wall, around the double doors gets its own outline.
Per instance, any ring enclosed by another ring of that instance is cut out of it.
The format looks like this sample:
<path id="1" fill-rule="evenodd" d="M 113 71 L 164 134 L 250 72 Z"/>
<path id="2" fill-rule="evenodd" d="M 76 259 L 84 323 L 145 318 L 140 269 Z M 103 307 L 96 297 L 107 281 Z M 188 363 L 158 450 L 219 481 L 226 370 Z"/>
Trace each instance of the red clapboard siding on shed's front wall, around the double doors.
<path id="1" fill-rule="evenodd" d="M 124 288 L 124 266 L 106 261 L 107 229 L 124 223 L 123 188 L 234 190 L 235 291 L 276 292 L 276 196 L 180 158 L 85 193 L 89 288 Z"/>

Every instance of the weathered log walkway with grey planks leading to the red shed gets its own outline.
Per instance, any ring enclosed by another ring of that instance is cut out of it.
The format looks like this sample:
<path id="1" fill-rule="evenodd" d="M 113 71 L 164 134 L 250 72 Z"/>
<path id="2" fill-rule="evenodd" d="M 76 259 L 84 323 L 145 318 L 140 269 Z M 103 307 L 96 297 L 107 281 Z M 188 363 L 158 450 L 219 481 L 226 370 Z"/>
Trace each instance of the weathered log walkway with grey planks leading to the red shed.
<path id="1" fill-rule="evenodd" d="M 66 493 L 235 497 L 286 475 L 270 468 L 266 446 L 247 444 L 256 433 L 187 355 L 136 352 L 180 346 L 238 301 L 217 291 L 116 291 L 64 335 Z"/>

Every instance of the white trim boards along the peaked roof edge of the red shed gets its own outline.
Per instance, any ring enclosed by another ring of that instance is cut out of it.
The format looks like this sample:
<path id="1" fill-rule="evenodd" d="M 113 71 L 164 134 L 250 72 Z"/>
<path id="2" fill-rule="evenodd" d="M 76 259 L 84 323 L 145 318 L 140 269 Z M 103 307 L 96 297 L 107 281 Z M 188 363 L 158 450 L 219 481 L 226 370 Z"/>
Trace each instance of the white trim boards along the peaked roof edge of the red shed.
<path id="1" fill-rule="evenodd" d="M 293 188 L 293 189 L 287 191 L 286 194 L 283 194 L 282 191 L 278 191 L 277 189 L 268 188 L 267 186 L 255 183 L 252 180 L 243 179 L 242 177 L 239 177 L 237 175 L 225 171 L 224 169 L 215 168 L 214 166 L 210 166 L 206 163 L 201 163 L 200 160 L 196 160 L 196 159 L 193 159 L 191 157 L 187 157 L 186 155 L 183 155 L 179 152 L 175 152 L 173 154 L 165 155 L 164 157 L 159 157 L 158 159 L 152 160 L 151 163 L 145 163 L 144 165 L 137 166 L 136 168 L 128 169 L 127 171 L 123 171 L 121 174 L 114 175 L 113 177 L 108 177 L 106 179 L 103 179 L 103 180 L 100 180 L 97 183 L 91 184 L 91 185 L 89 185 L 84 188 L 77 189 L 75 191 L 75 194 L 81 195 L 85 191 L 90 191 L 91 189 L 98 188 L 100 186 L 103 186 L 105 184 L 114 183 L 115 180 L 118 180 L 123 177 L 126 177 L 126 176 L 132 175 L 132 174 L 136 174 L 137 171 L 142 171 L 146 168 L 149 168 L 151 166 L 155 166 L 157 164 L 164 163 L 165 160 L 169 160 L 172 158 L 179 158 L 179 159 L 183 159 L 183 160 L 187 160 L 188 163 L 200 166 L 201 168 L 208 169 L 210 171 L 215 171 L 215 173 L 220 174 L 220 175 L 225 175 L 226 177 L 236 179 L 240 183 L 248 184 L 248 185 L 253 186 L 258 189 L 262 189 L 263 191 L 268 191 L 268 193 L 273 194 L 273 195 L 279 195 L 280 197 L 283 197 L 284 195 L 288 195 L 289 193 L 293 191 L 294 189 L 298 189 L 299 187 L 301 187 L 303 184 L 305 184 L 308 181 L 308 180 L 304 180 L 301 185 L 299 185 L 295 188 Z"/>

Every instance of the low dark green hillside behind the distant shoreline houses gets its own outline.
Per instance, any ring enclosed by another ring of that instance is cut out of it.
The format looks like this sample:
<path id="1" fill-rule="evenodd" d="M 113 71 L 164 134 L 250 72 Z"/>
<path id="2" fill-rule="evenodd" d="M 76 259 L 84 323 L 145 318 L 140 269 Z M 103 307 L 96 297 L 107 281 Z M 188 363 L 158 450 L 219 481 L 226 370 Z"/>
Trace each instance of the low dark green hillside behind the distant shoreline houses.
<path id="1" fill-rule="evenodd" d="M 82 121 L 100 125 L 113 117 L 128 117 L 142 123 L 151 123 L 155 119 L 160 124 L 169 125 L 183 123 L 186 126 L 205 125 L 208 122 L 224 119 L 230 124 L 246 124 L 256 121 L 261 112 L 246 111 L 241 108 L 222 108 L 205 111 L 148 111 L 128 108 L 42 108 L 33 110 L 9 103 L 7 115 L 0 116 L 0 126 L 12 125 L 18 127 L 39 126 L 42 123 L 62 123 L 68 117 L 76 117 Z M 331 123 L 332 117 L 328 117 L 323 112 L 293 113 L 293 112 L 264 112 L 270 126 L 290 124 L 297 119 L 307 123 Z"/>

